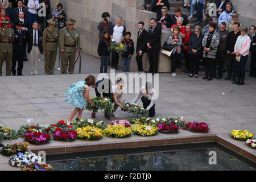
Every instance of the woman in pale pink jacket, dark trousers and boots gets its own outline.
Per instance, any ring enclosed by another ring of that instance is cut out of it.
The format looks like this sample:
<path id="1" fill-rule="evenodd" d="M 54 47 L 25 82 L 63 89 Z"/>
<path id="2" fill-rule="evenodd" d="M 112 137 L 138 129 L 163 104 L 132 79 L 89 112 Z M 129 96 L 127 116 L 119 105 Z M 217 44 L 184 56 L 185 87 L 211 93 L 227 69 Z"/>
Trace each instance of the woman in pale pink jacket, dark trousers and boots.
<path id="1" fill-rule="evenodd" d="M 243 85 L 245 84 L 245 65 L 248 59 L 251 39 L 246 35 L 247 27 L 242 28 L 241 35 L 238 36 L 237 42 L 234 47 L 234 53 L 237 60 L 237 80 L 232 84 Z"/>

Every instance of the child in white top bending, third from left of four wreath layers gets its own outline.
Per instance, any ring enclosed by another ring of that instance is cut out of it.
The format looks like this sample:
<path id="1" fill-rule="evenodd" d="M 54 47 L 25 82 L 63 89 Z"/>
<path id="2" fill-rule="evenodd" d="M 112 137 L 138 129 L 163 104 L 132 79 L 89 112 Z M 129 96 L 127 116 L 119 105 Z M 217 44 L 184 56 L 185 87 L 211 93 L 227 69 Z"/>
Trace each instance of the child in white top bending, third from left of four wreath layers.
<path id="1" fill-rule="evenodd" d="M 122 106 L 122 96 L 123 96 L 123 86 L 124 82 L 122 78 L 117 78 L 117 85 L 112 86 L 112 94 L 114 100 L 114 110 L 112 111 L 112 116 L 118 118 L 118 115 L 115 114 L 118 106 L 122 109 L 126 110 L 125 107 Z"/>

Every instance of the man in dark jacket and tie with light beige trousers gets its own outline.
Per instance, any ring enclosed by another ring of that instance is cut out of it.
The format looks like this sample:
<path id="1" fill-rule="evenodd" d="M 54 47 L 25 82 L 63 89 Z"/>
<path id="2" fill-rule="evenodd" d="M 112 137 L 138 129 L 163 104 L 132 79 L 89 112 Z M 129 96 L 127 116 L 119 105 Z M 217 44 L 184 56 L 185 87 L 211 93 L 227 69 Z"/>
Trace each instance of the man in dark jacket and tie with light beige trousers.
<path id="1" fill-rule="evenodd" d="M 42 40 L 43 32 L 38 30 L 38 22 L 32 23 L 32 29 L 27 32 L 27 53 L 30 61 L 31 75 L 37 75 L 39 72 L 39 53 L 43 54 Z"/>

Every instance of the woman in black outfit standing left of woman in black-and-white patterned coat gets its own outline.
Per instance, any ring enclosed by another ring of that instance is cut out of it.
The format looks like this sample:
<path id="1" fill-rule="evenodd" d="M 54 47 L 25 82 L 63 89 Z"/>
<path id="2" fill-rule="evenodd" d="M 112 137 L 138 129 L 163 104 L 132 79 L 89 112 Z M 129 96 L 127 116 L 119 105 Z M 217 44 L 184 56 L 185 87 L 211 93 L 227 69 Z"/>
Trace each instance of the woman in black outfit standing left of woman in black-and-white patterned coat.
<path id="1" fill-rule="evenodd" d="M 190 57 L 190 75 L 192 77 L 195 73 L 195 78 L 198 78 L 199 63 L 203 55 L 202 40 L 204 36 L 201 34 L 202 28 L 200 26 L 195 27 L 195 34 L 191 34 L 188 46 L 189 46 L 189 57 Z"/>

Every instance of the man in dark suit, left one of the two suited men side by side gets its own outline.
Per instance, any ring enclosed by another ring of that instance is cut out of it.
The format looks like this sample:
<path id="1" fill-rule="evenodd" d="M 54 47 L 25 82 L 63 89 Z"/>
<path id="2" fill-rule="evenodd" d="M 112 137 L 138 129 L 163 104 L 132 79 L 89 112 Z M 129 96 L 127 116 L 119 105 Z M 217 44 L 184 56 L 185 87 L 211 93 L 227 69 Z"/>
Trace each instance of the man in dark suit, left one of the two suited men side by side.
<path id="1" fill-rule="evenodd" d="M 138 65 L 138 71 L 143 72 L 142 56 L 144 52 L 147 52 L 147 31 L 144 28 L 144 22 L 138 23 L 138 36 L 136 46 L 136 61 Z"/>

